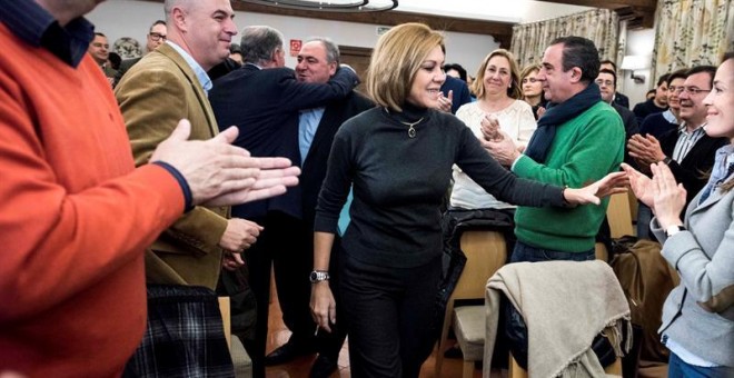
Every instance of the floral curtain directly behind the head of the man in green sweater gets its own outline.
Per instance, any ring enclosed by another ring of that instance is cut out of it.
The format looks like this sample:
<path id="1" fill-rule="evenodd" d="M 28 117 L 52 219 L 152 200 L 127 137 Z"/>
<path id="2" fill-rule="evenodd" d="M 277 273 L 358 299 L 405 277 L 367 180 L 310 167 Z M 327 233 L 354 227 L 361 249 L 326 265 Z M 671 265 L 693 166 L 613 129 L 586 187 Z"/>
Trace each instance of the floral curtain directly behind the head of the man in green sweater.
<path id="1" fill-rule="evenodd" d="M 619 18 L 608 9 L 593 9 L 552 20 L 513 27 L 510 51 L 520 67 L 539 63 L 550 41 L 558 37 L 588 38 L 599 50 L 601 59 L 617 59 Z"/>

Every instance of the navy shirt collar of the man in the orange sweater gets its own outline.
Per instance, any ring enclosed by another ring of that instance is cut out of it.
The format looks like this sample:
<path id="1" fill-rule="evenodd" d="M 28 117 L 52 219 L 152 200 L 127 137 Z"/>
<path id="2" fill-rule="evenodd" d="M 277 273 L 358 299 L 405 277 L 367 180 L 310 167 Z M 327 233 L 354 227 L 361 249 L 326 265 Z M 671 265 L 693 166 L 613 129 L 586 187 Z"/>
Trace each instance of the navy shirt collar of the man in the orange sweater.
<path id="1" fill-rule="evenodd" d="M 78 18 L 61 27 L 33 0 L 0 0 L 0 22 L 32 47 L 42 47 L 71 67 L 85 58 L 95 36 L 95 26 Z"/>

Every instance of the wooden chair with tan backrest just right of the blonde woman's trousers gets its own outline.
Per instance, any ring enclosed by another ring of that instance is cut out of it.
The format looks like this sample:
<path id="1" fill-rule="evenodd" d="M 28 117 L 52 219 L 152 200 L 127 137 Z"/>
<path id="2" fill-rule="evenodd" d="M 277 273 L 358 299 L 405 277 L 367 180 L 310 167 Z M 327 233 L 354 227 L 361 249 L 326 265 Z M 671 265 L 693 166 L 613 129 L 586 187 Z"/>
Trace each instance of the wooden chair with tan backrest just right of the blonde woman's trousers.
<path id="1" fill-rule="evenodd" d="M 454 292 L 448 298 L 446 312 L 444 315 L 444 325 L 440 339 L 438 340 L 438 350 L 436 352 L 436 377 L 442 377 L 440 369 L 444 362 L 444 351 L 448 347 L 448 329 L 453 324 L 454 300 L 456 299 L 483 299 L 486 290 L 487 280 L 497 271 L 507 260 L 507 246 L 505 237 L 498 231 L 469 230 L 462 235 L 462 251 L 466 255 L 466 266 L 456 284 Z M 484 310 L 484 306 L 477 306 Z M 482 360 L 479 357 L 476 360 Z M 474 362 L 470 362 L 474 370 Z M 470 374 L 470 372 L 469 372 Z"/>

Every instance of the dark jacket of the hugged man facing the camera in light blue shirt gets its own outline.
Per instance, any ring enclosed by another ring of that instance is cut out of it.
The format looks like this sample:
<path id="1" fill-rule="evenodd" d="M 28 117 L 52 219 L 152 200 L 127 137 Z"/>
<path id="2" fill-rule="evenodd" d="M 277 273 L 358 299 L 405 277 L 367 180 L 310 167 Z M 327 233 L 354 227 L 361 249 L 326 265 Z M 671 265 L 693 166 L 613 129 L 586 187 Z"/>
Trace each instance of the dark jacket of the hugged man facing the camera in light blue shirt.
<path id="1" fill-rule="evenodd" d="M 314 141 L 306 156 L 300 173 L 302 188 L 304 220 L 314 225 L 316 202 L 326 178 L 326 167 L 331 151 L 334 136 L 346 120 L 360 112 L 374 108 L 375 105 L 366 97 L 351 92 L 347 98 L 331 101 L 324 110 L 321 121 L 318 123 Z"/>

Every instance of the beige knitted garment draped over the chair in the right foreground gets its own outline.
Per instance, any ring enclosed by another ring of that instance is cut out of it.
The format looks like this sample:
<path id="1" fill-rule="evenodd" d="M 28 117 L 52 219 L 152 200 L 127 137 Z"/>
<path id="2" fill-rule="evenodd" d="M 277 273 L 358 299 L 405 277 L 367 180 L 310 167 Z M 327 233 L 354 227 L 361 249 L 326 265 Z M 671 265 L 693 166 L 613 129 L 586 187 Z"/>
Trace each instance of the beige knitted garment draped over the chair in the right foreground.
<path id="1" fill-rule="evenodd" d="M 607 263 L 508 263 L 487 281 L 485 378 L 489 377 L 500 292 L 527 325 L 530 377 L 603 377 L 604 369 L 591 349 L 594 337 L 614 326 L 616 335 L 611 340 L 616 340 L 615 351 L 621 356 L 622 327 L 632 331 L 627 300 Z"/>

